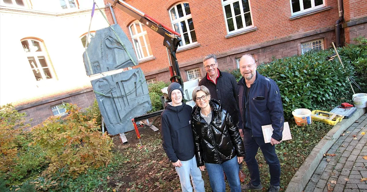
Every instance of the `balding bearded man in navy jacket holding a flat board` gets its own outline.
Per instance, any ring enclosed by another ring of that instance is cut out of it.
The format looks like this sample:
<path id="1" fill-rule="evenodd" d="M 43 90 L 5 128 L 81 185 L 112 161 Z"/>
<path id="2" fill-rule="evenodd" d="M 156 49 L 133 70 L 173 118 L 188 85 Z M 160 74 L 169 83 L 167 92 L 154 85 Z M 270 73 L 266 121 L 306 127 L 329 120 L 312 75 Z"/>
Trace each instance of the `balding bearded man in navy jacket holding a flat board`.
<path id="1" fill-rule="evenodd" d="M 245 147 L 245 162 L 251 180 L 242 185 L 241 190 L 261 191 L 260 173 L 256 154 L 260 147 L 270 171 L 268 192 L 278 192 L 280 183 L 280 163 L 275 153 L 275 144 L 279 144 L 283 132 L 283 105 L 279 87 L 274 80 L 266 78 L 256 71 L 254 57 L 246 54 L 240 60 L 240 72 L 243 78 L 239 86 L 239 127 L 242 129 Z M 271 124 L 274 131 L 270 143 L 264 142 L 261 126 Z"/>

